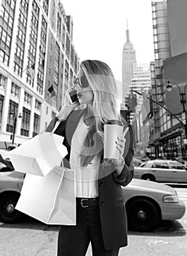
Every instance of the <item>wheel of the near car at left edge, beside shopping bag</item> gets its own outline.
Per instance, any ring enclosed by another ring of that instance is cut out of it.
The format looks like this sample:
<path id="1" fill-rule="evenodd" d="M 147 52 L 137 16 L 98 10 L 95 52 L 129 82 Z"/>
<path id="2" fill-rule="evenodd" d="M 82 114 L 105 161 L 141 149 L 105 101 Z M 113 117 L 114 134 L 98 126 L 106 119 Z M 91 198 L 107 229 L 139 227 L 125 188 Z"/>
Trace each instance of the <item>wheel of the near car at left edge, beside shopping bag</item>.
<path id="1" fill-rule="evenodd" d="M 0 198 L 0 219 L 4 223 L 15 223 L 20 220 L 21 213 L 15 209 L 20 195 L 8 192 Z"/>

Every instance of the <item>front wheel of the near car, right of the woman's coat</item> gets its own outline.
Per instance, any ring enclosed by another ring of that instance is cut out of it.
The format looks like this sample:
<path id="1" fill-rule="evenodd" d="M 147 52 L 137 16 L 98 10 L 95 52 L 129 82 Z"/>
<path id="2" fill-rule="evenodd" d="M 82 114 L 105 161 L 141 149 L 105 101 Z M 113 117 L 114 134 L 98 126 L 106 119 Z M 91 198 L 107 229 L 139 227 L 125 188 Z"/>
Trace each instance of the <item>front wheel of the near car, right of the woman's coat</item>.
<path id="1" fill-rule="evenodd" d="M 133 230 L 149 231 L 158 225 L 159 213 L 150 200 L 138 198 L 127 203 L 127 220 Z"/>

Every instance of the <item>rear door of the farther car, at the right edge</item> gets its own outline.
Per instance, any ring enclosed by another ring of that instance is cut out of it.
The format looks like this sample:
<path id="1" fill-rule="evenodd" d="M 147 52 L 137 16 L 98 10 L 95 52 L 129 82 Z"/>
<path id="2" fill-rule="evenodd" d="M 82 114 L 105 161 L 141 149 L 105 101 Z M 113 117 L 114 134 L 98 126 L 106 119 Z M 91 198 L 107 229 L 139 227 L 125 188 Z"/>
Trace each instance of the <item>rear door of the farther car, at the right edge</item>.
<path id="1" fill-rule="evenodd" d="M 170 169 L 172 170 L 173 182 L 187 183 L 187 170 L 186 167 L 180 162 L 170 161 Z"/>

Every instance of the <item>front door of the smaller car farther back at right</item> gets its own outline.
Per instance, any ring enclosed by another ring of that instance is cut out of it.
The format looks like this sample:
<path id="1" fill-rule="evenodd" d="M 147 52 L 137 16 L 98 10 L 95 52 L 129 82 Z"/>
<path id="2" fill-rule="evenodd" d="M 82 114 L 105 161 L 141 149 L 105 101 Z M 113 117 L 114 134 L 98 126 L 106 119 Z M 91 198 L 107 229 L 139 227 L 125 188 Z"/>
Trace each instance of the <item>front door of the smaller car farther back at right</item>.
<path id="1" fill-rule="evenodd" d="M 153 171 L 154 176 L 156 177 L 156 181 L 161 181 L 161 182 L 174 181 L 172 171 L 170 170 L 167 161 L 162 161 L 162 160 L 154 161 L 153 165 L 151 166 L 151 170 Z"/>

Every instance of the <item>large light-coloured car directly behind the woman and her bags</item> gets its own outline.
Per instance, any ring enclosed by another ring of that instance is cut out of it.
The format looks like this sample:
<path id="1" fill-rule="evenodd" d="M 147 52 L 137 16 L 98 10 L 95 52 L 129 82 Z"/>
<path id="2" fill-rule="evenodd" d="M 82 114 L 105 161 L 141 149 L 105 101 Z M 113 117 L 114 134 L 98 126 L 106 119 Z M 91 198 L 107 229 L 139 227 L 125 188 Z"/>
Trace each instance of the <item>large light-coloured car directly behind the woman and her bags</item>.
<path id="1" fill-rule="evenodd" d="M 15 210 L 24 173 L 0 173 L 0 219 L 12 223 L 20 221 L 22 214 Z M 164 184 L 133 178 L 122 187 L 127 208 L 128 225 L 135 230 L 154 229 L 161 219 L 180 219 L 186 208 L 175 189 Z"/>

